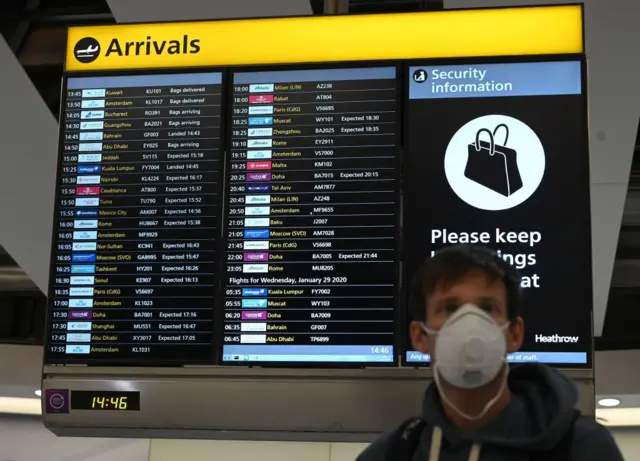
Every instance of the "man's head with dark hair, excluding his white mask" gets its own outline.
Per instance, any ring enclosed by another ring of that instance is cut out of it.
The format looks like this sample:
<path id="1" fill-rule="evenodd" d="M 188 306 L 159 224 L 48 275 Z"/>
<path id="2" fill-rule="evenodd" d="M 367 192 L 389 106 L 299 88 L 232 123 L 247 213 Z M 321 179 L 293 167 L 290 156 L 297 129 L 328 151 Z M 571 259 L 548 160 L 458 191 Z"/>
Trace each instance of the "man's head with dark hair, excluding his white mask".
<path id="1" fill-rule="evenodd" d="M 520 348 L 524 335 L 520 274 L 492 250 L 456 245 L 427 259 L 411 282 L 409 332 L 414 349 L 433 354 L 435 338 L 424 327 L 440 331 L 465 304 L 486 311 L 498 325 L 509 323 L 507 351 Z"/>

